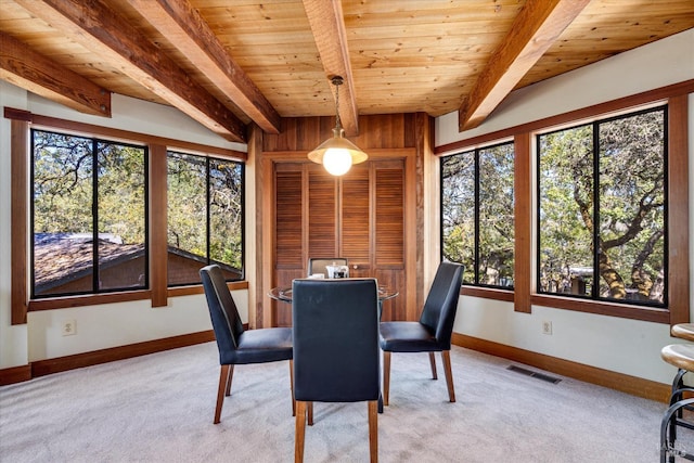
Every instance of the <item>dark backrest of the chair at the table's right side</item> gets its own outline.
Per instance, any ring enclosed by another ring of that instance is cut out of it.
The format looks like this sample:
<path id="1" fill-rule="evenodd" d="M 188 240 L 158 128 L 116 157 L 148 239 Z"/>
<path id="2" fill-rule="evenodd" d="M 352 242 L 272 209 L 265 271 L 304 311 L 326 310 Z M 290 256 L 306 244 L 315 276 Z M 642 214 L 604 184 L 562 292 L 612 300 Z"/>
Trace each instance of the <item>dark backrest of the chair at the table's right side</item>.
<path id="1" fill-rule="evenodd" d="M 463 280 L 463 266 L 454 262 L 441 262 L 436 270 L 420 317 L 420 323 L 435 333 L 442 349 L 451 348 L 453 322 L 458 311 L 460 285 Z"/>

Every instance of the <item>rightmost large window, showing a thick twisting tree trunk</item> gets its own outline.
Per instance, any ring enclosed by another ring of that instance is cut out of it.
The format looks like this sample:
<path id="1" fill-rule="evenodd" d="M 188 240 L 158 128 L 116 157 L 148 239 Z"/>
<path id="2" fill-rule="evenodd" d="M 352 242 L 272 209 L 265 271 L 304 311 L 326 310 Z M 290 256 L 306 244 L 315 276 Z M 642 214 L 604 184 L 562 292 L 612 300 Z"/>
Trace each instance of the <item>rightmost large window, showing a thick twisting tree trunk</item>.
<path id="1" fill-rule="evenodd" d="M 666 107 L 544 133 L 538 293 L 664 307 Z"/>

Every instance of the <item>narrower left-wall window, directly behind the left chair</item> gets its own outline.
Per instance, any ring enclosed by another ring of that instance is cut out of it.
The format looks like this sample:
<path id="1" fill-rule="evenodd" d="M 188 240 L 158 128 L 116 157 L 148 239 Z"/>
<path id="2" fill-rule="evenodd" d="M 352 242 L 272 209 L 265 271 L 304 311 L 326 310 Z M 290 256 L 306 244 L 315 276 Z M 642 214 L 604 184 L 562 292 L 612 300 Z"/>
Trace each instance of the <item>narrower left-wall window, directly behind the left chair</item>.
<path id="1" fill-rule="evenodd" d="M 168 152 L 168 284 L 198 284 L 200 268 L 243 276 L 243 164 Z"/>

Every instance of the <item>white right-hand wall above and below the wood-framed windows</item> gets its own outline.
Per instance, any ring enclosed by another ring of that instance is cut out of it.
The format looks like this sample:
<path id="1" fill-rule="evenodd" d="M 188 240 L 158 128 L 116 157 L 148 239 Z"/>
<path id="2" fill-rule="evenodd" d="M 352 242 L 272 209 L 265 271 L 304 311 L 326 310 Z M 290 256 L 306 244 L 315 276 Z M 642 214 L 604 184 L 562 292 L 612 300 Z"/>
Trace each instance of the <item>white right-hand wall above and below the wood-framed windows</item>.
<path id="1" fill-rule="evenodd" d="M 512 93 L 476 129 L 458 132 L 458 114 L 436 119 L 436 145 L 493 132 L 573 110 L 694 79 L 694 29 Z M 694 95 L 690 94 L 690 229 L 694 230 Z M 690 242 L 690 307 L 694 309 L 694 239 Z M 692 313 L 694 320 L 694 313 Z M 552 335 L 543 335 L 551 321 Z M 531 313 L 510 303 L 462 297 L 457 333 L 670 383 L 674 369 L 660 359 L 663 346 L 678 343 L 669 325 L 534 306 Z"/>

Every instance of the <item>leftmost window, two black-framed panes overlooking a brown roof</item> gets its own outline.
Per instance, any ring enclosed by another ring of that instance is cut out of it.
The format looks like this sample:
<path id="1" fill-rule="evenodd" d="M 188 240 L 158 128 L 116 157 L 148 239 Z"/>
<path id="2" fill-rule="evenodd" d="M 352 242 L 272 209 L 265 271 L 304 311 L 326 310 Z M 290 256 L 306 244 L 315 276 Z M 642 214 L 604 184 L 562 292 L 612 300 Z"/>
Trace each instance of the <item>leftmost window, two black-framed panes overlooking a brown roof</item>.
<path id="1" fill-rule="evenodd" d="M 31 130 L 31 296 L 145 288 L 147 150 Z"/>

